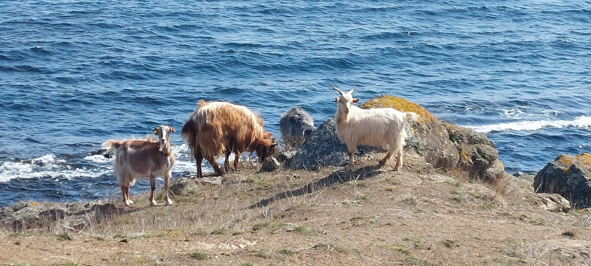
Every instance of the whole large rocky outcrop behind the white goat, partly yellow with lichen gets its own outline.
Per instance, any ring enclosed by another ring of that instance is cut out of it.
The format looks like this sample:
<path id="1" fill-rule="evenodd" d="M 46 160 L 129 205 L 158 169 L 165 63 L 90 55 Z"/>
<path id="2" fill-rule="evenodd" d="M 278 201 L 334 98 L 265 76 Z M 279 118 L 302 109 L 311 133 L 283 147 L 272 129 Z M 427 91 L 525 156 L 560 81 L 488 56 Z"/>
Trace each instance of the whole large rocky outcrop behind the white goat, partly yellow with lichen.
<path id="1" fill-rule="evenodd" d="M 494 143 L 485 134 L 466 127 L 442 123 L 426 109 L 404 98 L 381 96 L 359 106 L 363 109 L 392 107 L 400 111 L 413 111 L 417 121 L 407 127 L 405 149 L 412 150 L 433 168 L 465 170 L 471 178 L 499 179 L 505 175 L 503 163 Z M 359 155 L 381 152 L 380 147 L 359 146 Z M 303 143 L 296 155 L 286 163 L 289 168 L 316 170 L 319 166 L 339 166 L 346 163 L 347 147 L 335 132 L 335 121 L 326 120 Z"/>

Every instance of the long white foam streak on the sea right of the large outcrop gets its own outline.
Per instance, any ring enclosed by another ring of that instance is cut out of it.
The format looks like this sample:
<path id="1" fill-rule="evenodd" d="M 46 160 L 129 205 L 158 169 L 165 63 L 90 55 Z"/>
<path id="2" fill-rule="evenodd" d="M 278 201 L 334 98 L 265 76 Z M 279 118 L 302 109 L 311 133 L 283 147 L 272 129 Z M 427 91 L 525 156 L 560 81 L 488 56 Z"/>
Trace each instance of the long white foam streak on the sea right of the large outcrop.
<path id="1" fill-rule="evenodd" d="M 527 130 L 538 130 L 543 127 L 579 127 L 581 129 L 587 129 L 591 126 L 591 117 L 580 116 L 574 120 L 538 120 L 538 121 L 518 121 L 511 123 L 501 124 L 490 124 L 486 126 L 467 126 L 476 132 L 498 132 L 506 130 L 516 131 L 527 131 Z"/>

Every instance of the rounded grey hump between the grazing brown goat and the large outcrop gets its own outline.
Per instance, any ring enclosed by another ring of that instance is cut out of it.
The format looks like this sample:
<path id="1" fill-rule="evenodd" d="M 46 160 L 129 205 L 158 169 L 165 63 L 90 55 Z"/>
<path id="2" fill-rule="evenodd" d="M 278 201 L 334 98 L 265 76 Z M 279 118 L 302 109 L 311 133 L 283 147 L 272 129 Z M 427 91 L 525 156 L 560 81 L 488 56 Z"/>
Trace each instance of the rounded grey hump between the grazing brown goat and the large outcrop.
<path id="1" fill-rule="evenodd" d="M 313 132 L 314 119 L 301 107 L 293 107 L 281 116 L 279 128 L 285 145 L 299 147 Z"/>

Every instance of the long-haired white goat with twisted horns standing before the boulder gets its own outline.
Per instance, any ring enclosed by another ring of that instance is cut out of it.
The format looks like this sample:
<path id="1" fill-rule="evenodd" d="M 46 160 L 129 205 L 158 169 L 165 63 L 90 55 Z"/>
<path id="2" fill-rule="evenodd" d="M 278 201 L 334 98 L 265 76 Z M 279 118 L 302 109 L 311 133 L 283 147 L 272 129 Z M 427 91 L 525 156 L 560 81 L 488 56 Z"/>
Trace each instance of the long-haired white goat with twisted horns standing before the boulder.
<path id="1" fill-rule="evenodd" d="M 417 114 L 403 113 L 394 108 L 361 109 L 353 105 L 359 102 L 359 99 L 353 98 L 353 90 L 344 93 L 334 85 L 332 87 L 340 93 L 340 97 L 335 98 L 336 133 L 349 150 L 347 171 L 354 168 L 353 155 L 357 152 L 358 145 L 382 146 L 388 150 L 384 159 L 379 162 L 381 165 L 396 153 L 394 170 L 397 171 L 402 166 L 402 148 L 407 137 L 404 123 L 407 120 L 417 120 Z"/>

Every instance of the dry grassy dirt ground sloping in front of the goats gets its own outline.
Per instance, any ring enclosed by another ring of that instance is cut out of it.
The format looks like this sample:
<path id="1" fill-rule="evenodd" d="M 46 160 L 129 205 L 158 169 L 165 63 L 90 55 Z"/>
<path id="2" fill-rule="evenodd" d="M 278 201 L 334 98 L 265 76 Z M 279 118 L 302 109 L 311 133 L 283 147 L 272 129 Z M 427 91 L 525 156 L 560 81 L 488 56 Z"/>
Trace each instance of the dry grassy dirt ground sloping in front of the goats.
<path id="1" fill-rule="evenodd" d="M 173 206 L 132 197 L 81 232 L 0 231 L 0 265 L 591 265 L 590 211 L 376 159 L 191 181 Z"/>

